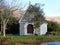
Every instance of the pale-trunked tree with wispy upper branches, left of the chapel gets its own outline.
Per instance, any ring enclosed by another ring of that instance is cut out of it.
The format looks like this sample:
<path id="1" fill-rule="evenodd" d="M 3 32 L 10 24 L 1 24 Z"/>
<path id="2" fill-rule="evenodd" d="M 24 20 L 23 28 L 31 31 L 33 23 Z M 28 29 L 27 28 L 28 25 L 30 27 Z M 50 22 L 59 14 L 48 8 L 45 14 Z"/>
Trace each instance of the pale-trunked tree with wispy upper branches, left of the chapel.
<path id="1" fill-rule="evenodd" d="M 16 4 L 16 5 L 13 5 L 13 4 Z M 10 5 L 9 5 L 9 2 L 5 3 L 5 0 L 0 0 L 0 24 L 1 24 L 1 32 L 3 32 L 3 36 L 5 36 L 7 23 L 16 21 L 16 19 L 13 17 L 13 12 L 16 10 L 19 10 L 20 6 L 17 6 L 17 5 L 18 5 L 18 0 L 14 0 L 14 1 L 12 0 Z"/>

